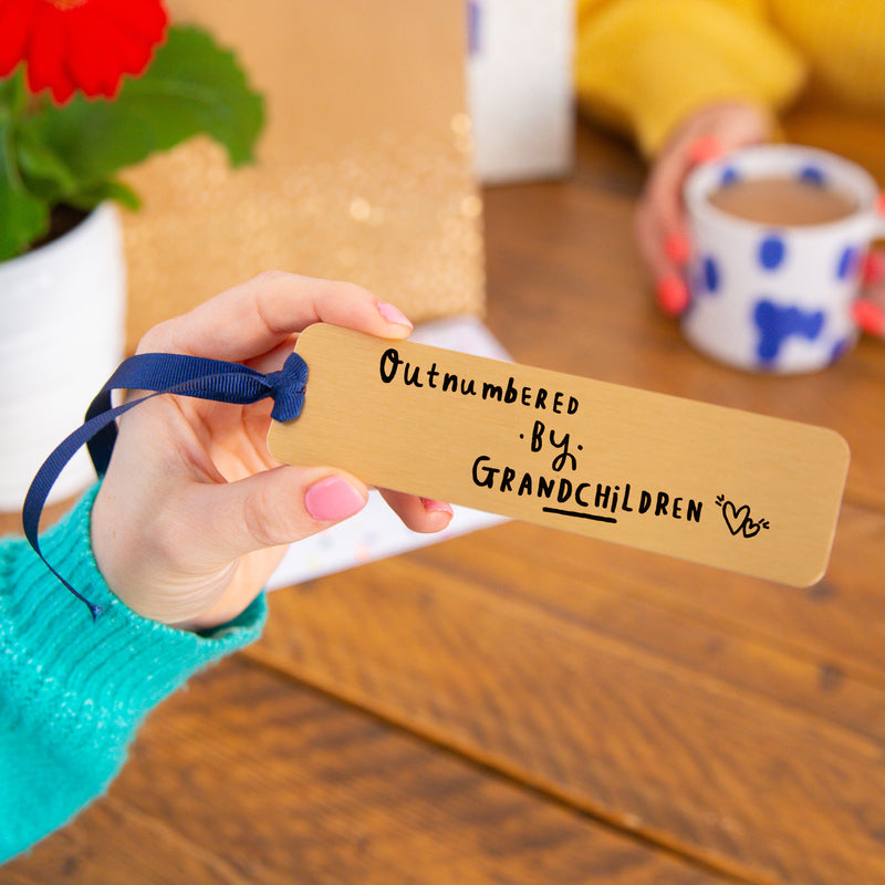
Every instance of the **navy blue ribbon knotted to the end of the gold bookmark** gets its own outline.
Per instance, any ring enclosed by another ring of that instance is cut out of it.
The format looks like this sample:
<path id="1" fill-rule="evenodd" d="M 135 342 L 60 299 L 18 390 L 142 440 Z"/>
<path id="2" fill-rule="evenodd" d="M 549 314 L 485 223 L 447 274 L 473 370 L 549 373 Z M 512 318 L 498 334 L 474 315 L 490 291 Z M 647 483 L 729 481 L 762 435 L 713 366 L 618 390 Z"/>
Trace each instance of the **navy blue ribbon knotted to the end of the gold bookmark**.
<path id="1" fill-rule="evenodd" d="M 24 537 L 46 568 L 71 593 L 84 602 L 93 618 L 98 617 L 103 606 L 96 605 L 80 594 L 58 571 L 46 562 L 40 550 L 40 517 L 55 480 L 65 465 L 84 444 L 100 477 L 111 462 L 111 454 L 117 437 L 116 419 L 131 408 L 163 394 L 211 399 L 217 403 L 248 405 L 271 397 L 271 417 L 285 421 L 296 418 L 304 403 L 308 382 L 306 363 L 292 353 L 279 372 L 262 375 L 239 363 L 226 363 L 202 356 L 186 356 L 174 353 L 145 353 L 124 361 L 102 387 L 86 410 L 82 427 L 77 428 L 46 458 L 28 489 L 22 508 Z M 113 391 L 152 391 L 138 399 L 113 406 Z"/>

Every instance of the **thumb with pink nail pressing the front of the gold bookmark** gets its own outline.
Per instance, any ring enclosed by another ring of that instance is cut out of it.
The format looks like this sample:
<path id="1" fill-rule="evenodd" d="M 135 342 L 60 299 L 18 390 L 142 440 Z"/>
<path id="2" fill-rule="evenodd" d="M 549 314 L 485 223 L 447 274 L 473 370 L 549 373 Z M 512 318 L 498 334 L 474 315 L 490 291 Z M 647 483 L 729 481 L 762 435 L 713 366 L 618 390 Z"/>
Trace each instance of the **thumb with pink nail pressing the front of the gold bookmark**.
<path id="1" fill-rule="evenodd" d="M 348 473 L 287 465 L 202 487 L 200 498 L 206 552 L 219 562 L 231 562 L 309 538 L 354 516 L 365 507 L 368 490 Z"/>

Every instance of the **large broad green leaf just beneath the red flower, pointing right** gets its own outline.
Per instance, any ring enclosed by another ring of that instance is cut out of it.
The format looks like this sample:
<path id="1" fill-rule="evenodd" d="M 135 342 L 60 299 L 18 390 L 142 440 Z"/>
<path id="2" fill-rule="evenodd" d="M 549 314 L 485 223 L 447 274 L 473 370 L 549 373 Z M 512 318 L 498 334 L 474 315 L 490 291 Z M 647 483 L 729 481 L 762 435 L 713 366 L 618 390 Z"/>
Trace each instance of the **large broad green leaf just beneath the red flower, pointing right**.
<path id="1" fill-rule="evenodd" d="M 194 27 L 170 28 L 145 74 L 127 79 L 115 100 L 80 96 L 23 121 L 85 187 L 199 134 L 232 165 L 247 163 L 262 123 L 262 98 L 233 54 Z"/>

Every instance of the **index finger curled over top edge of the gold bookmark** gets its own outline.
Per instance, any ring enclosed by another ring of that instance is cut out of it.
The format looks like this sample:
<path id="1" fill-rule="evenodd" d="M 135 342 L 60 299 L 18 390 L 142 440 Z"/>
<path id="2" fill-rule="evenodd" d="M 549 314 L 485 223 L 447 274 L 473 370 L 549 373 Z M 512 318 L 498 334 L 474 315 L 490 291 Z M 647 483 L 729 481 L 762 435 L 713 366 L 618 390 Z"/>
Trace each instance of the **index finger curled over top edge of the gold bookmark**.
<path id="1" fill-rule="evenodd" d="M 317 322 L 389 339 L 412 332 L 403 313 L 362 287 L 274 271 L 160 323 L 145 335 L 138 351 L 244 362 Z"/>

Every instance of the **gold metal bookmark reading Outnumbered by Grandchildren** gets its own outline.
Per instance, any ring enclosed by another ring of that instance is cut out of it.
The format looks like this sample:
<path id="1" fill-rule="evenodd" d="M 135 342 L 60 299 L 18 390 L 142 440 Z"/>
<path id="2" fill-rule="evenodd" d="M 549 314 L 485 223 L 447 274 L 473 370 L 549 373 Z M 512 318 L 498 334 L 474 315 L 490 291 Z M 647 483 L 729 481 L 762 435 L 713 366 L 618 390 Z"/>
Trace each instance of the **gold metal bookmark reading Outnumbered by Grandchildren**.
<path id="1" fill-rule="evenodd" d="M 280 461 L 794 586 L 826 569 L 833 430 L 326 324 L 296 351 Z"/>

